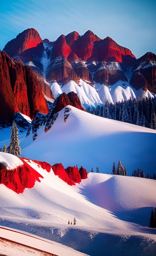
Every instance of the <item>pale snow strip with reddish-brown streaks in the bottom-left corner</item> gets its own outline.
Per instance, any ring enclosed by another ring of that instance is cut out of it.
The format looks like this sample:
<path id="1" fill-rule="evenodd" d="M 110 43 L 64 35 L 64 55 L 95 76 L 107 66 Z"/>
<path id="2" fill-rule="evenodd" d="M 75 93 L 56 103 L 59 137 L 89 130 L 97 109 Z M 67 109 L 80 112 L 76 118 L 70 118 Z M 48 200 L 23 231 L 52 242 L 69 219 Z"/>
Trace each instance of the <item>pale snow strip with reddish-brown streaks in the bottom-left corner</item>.
<path id="1" fill-rule="evenodd" d="M 7 256 L 85 256 L 72 248 L 51 240 L 32 236 L 16 229 L 0 227 L 0 253 Z M 2 255 L 2 254 L 1 254 Z M 87 255 L 86 255 L 87 256 Z"/>

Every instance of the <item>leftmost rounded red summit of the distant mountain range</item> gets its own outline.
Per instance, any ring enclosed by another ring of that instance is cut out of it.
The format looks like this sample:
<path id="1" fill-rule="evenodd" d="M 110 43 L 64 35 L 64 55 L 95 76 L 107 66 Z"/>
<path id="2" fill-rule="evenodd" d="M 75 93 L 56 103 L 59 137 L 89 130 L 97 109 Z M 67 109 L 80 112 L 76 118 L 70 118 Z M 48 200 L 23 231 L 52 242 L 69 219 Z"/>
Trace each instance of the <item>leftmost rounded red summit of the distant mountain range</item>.
<path id="1" fill-rule="evenodd" d="M 4 51 L 13 58 L 27 49 L 36 47 L 39 43 L 42 43 L 42 39 L 38 32 L 33 28 L 26 29 L 18 34 L 16 38 L 9 41 L 7 45 L 5 45 Z"/>

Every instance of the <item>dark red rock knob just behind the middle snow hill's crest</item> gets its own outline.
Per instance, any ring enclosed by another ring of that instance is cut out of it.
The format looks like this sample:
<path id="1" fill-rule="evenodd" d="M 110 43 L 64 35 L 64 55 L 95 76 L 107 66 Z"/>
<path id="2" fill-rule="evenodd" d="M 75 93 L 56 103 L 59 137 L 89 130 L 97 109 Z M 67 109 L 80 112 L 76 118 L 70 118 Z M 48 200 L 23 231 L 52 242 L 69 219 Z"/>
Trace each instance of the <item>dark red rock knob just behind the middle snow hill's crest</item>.
<path id="1" fill-rule="evenodd" d="M 57 97 L 55 101 L 55 108 L 53 109 L 53 114 L 59 112 L 60 110 L 62 110 L 64 107 L 68 105 L 78 108 L 80 110 L 86 111 L 82 107 L 79 97 L 75 92 L 69 92 L 68 94 L 63 92 L 62 94 L 59 95 L 59 97 Z"/>

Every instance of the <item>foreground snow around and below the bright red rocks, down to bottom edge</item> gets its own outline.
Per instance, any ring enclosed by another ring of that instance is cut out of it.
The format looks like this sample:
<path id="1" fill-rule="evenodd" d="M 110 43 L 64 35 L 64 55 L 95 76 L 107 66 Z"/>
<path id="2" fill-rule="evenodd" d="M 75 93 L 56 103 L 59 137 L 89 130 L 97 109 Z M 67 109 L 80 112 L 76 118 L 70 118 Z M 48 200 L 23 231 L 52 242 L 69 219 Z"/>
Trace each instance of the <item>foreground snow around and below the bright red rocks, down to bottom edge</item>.
<path id="1" fill-rule="evenodd" d="M 12 157 L 20 163 L 18 157 L 0 152 L 0 162 L 4 158 L 12 162 Z M 145 227 L 156 205 L 155 180 L 88 173 L 86 180 L 70 186 L 52 169 L 48 173 L 33 161 L 25 161 L 43 179 L 21 194 L 0 184 L 0 254 L 45 255 L 35 254 L 29 246 L 59 256 L 81 255 L 79 252 L 91 256 L 155 255 L 156 229 Z M 73 218 L 77 224 L 68 225 Z M 4 232 L 2 226 L 9 229 Z"/>

